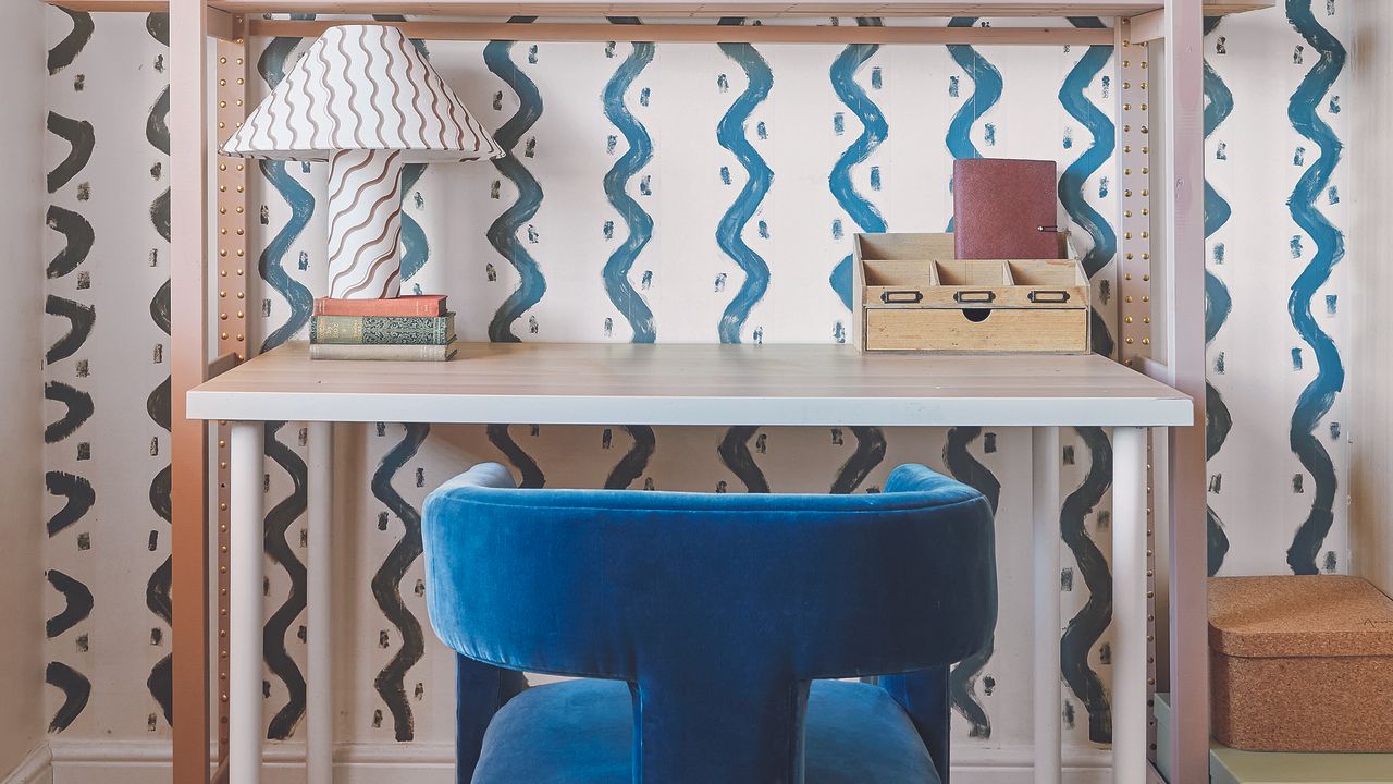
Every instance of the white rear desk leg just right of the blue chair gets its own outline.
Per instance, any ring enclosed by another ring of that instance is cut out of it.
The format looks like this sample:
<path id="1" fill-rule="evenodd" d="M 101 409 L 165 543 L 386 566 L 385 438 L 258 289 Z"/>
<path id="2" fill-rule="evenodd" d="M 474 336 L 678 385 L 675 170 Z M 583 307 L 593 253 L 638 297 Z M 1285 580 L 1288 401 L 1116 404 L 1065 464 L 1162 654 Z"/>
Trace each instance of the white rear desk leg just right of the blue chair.
<path id="1" fill-rule="evenodd" d="M 1031 428 L 1035 552 L 1035 784 L 1059 784 L 1059 428 Z"/>

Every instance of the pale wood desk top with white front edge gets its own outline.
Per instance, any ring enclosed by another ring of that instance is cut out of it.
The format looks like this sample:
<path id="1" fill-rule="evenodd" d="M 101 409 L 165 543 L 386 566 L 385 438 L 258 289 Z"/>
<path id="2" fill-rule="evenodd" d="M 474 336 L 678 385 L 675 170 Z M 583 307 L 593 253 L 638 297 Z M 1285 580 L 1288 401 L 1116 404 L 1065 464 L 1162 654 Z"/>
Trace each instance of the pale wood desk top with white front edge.
<path id="1" fill-rule="evenodd" d="M 311 360 L 287 343 L 188 393 L 244 421 L 652 425 L 1190 425 L 1185 395 L 1098 354 L 846 345 L 461 343 L 449 363 Z"/>

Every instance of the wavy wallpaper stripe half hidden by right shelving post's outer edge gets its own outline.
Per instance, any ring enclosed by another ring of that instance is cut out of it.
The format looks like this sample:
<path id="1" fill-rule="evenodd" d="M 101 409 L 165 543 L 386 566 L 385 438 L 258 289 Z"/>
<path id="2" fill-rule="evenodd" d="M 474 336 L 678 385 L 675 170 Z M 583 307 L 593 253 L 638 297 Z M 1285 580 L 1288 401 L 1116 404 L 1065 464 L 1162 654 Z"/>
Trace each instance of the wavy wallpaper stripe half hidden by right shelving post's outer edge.
<path id="1" fill-rule="evenodd" d="M 1205 18 L 1205 35 L 1219 27 L 1223 17 Z M 1219 73 L 1205 60 L 1205 140 L 1213 134 L 1215 128 L 1233 113 L 1233 92 L 1223 82 Z M 1205 239 L 1229 222 L 1233 209 L 1229 202 L 1219 195 L 1219 191 L 1205 179 Z M 1233 310 L 1233 297 L 1229 287 L 1217 275 L 1205 269 L 1205 346 L 1213 342 L 1215 335 L 1223 328 Z M 1205 381 L 1205 458 L 1213 459 L 1223 448 L 1233 428 L 1233 414 L 1223 400 L 1223 395 L 1213 384 Z M 1215 513 L 1213 506 L 1205 508 L 1205 529 L 1209 551 L 1209 575 L 1213 576 L 1223 566 L 1224 555 L 1229 554 L 1229 536 L 1224 534 L 1223 520 Z"/>

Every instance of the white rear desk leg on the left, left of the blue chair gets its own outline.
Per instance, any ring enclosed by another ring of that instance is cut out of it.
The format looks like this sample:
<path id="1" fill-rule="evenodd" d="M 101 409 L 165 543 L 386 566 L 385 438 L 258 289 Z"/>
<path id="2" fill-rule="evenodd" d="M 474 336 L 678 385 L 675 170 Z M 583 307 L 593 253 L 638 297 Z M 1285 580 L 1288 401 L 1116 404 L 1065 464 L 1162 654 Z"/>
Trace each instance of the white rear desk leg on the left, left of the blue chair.
<path id="1" fill-rule="evenodd" d="M 332 784 L 333 773 L 333 554 L 330 530 L 333 527 L 333 467 L 334 467 L 334 425 L 332 423 L 309 424 L 309 569 L 306 585 L 305 629 L 309 658 L 306 699 L 306 749 L 305 778 L 308 784 Z"/>

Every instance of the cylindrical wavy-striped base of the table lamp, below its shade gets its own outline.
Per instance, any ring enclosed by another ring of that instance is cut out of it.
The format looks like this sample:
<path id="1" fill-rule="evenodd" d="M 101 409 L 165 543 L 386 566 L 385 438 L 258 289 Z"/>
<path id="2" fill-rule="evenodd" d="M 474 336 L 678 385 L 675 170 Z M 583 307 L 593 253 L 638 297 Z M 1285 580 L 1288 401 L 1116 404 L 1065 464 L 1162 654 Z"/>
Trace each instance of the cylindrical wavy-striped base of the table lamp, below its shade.
<path id="1" fill-rule="evenodd" d="M 396 297 L 401 290 L 401 152 L 343 149 L 329 159 L 329 296 Z"/>

